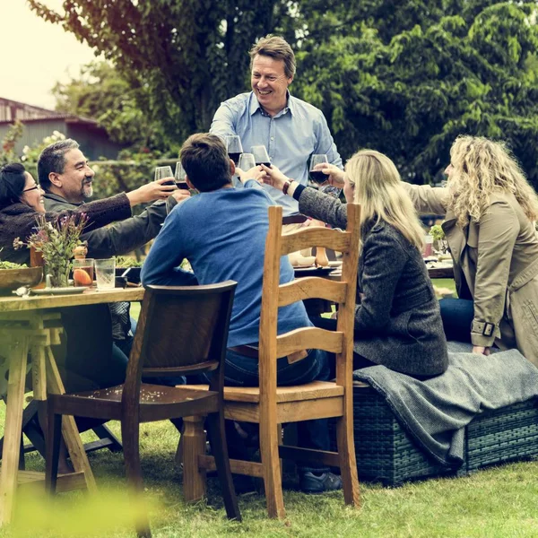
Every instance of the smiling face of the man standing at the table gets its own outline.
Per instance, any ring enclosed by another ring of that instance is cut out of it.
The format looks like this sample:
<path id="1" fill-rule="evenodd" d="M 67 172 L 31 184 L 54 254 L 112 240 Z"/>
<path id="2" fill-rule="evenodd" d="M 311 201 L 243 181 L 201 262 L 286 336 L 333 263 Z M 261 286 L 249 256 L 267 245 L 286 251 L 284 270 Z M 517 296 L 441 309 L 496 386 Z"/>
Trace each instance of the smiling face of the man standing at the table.
<path id="1" fill-rule="evenodd" d="M 252 91 L 265 111 L 274 116 L 285 108 L 288 86 L 293 77 L 284 72 L 284 60 L 271 56 L 256 55 L 252 62 L 250 83 Z"/>

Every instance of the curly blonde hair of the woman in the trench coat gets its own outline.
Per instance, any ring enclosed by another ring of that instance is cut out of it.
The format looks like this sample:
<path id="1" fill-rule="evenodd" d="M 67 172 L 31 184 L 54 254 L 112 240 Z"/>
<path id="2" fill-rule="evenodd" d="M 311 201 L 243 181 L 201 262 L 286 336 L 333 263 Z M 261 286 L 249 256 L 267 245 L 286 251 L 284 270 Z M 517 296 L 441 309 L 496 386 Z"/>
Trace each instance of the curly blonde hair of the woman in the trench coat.
<path id="1" fill-rule="evenodd" d="M 450 149 L 448 206 L 464 227 L 480 221 L 494 193 L 512 193 L 530 221 L 538 218 L 538 196 L 505 143 L 482 136 L 459 136 Z"/>

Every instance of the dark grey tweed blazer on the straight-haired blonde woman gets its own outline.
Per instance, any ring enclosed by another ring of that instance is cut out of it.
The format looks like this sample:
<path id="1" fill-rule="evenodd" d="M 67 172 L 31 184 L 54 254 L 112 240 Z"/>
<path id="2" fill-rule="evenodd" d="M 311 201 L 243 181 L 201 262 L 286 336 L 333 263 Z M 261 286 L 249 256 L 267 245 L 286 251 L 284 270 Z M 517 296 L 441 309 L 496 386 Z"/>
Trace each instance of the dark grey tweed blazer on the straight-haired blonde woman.
<path id="1" fill-rule="evenodd" d="M 346 205 L 313 188 L 300 193 L 299 211 L 335 227 L 347 224 Z M 405 374 L 442 374 L 447 340 L 421 253 L 384 221 L 366 224 L 361 239 L 354 351 Z"/>

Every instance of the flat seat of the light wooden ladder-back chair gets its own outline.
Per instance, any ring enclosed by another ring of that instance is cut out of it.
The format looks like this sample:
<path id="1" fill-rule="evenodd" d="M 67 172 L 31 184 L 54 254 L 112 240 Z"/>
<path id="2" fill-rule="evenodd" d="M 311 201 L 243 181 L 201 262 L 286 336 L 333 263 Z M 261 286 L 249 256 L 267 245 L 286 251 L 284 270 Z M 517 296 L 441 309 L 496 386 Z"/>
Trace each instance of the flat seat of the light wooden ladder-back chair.
<path id="1" fill-rule="evenodd" d="M 208 385 L 182 385 L 178 386 L 183 390 L 200 391 L 207 390 Z M 318 400 L 322 398 L 333 398 L 343 395 L 343 386 L 335 385 L 328 381 L 313 381 L 306 385 L 298 386 L 277 386 L 276 403 L 284 404 L 288 402 L 299 402 L 303 400 Z M 224 401 L 226 402 L 246 402 L 259 404 L 260 389 L 257 386 L 225 386 Z"/>

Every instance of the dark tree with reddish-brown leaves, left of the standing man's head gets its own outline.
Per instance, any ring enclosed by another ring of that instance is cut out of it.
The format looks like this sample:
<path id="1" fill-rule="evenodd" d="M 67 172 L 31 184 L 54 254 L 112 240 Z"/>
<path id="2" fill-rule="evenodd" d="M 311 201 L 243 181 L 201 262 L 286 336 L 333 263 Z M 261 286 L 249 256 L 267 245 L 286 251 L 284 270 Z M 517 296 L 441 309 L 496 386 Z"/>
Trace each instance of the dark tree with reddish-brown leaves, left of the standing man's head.
<path id="1" fill-rule="evenodd" d="M 163 127 L 182 137 L 207 130 L 221 100 L 247 89 L 248 49 L 293 9 L 284 0 L 69 0 L 65 14 L 30 6 L 147 88 Z"/>

